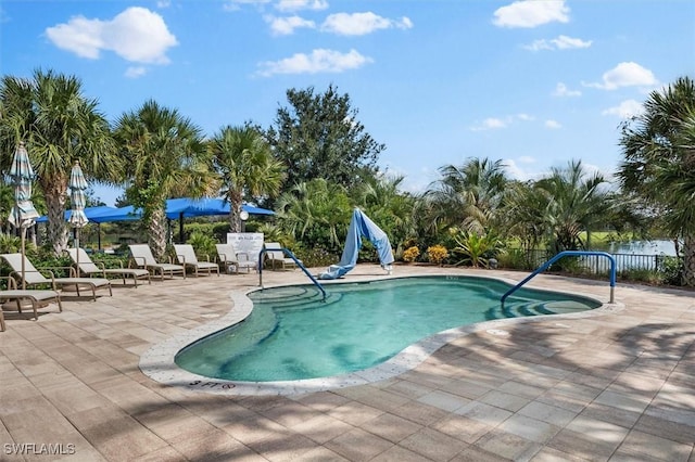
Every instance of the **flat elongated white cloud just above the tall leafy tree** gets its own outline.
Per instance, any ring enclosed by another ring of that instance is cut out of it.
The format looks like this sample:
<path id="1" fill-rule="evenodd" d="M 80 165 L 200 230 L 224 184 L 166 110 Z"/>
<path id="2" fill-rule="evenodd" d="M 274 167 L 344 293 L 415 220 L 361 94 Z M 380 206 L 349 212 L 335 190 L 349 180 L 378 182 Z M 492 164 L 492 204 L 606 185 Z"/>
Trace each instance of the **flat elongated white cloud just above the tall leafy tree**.
<path id="1" fill-rule="evenodd" d="M 260 63 L 258 75 L 269 77 L 274 74 L 342 73 L 359 68 L 370 62 L 370 57 L 363 56 L 356 50 L 341 53 L 334 50 L 317 49 L 311 54 L 296 53 L 280 61 Z"/>

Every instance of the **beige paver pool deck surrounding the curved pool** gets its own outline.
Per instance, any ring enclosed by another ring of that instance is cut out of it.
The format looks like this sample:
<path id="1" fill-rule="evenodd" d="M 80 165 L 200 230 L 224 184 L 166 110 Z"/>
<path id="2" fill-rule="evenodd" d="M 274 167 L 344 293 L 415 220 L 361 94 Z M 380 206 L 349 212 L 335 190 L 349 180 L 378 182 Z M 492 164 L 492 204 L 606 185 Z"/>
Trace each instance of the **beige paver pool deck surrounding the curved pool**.
<path id="1" fill-rule="evenodd" d="M 527 275 L 399 266 L 393 277 L 435 273 Z M 358 265 L 346 280 L 382 275 Z M 299 270 L 263 277 L 307 282 Z M 38 321 L 5 312 L 0 460 L 695 461 L 695 292 L 619 283 L 622 309 L 483 326 L 415 369 L 329 390 L 214 394 L 142 373 L 142 355 L 233 313 L 257 283 L 116 282 L 113 297 L 66 295 L 62 313 L 50 306 Z M 607 281 L 529 285 L 609 295 Z"/>

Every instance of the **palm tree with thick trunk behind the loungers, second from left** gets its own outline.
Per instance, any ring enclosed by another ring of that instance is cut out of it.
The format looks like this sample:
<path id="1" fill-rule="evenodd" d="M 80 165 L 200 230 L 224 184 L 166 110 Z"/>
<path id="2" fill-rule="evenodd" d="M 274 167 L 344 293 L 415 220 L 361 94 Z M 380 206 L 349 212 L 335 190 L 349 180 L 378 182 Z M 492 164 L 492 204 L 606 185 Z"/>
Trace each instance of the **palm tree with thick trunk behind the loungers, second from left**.
<path id="1" fill-rule="evenodd" d="M 142 207 L 149 244 L 156 258 L 166 251 L 165 201 L 175 196 L 212 195 L 218 179 L 210 170 L 201 129 L 177 110 L 146 101 L 124 114 L 114 130 L 129 187 L 126 196 Z"/>

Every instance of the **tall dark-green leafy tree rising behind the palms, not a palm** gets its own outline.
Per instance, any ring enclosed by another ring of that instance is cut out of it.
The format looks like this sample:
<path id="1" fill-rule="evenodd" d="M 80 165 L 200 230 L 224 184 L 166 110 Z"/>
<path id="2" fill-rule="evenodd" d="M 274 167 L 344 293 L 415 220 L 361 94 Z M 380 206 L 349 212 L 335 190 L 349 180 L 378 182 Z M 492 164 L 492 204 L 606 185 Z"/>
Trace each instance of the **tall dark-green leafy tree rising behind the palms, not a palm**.
<path id="1" fill-rule="evenodd" d="M 324 94 L 314 87 L 287 91 L 290 107 L 278 110 L 275 126 L 267 131 L 275 156 L 287 167 L 286 190 L 323 178 L 350 188 L 376 174 L 384 145 L 377 143 L 357 120 L 348 93 L 332 85 Z"/>

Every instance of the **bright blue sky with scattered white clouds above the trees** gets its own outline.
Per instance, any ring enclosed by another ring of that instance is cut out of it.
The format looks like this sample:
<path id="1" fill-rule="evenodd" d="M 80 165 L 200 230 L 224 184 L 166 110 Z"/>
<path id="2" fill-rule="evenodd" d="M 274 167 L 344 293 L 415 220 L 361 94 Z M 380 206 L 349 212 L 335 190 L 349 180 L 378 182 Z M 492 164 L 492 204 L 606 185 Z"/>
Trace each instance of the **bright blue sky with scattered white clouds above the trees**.
<path id="1" fill-rule="evenodd" d="M 3 0 L 0 28 L 3 75 L 76 75 L 112 121 L 154 99 L 212 137 L 333 84 L 414 192 L 473 156 L 609 175 L 620 121 L 695 77 L 692 0 Z"/>

